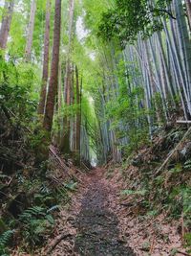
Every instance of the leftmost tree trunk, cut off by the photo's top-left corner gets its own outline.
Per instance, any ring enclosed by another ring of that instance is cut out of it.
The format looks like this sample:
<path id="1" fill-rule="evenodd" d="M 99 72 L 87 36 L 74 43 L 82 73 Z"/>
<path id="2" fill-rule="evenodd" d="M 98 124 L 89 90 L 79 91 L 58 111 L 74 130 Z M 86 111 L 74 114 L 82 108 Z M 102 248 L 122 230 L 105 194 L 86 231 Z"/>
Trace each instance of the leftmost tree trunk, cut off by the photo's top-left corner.
<path id="1" fill-rule="evenodd" d="M 14 0 L 5 1 L 5 7 L 4 7 L 4 15 L 2 18 L 2 24 L 1 24 L 1 30 L 0 30 L 0 48 L 6 49 L 7 42 L 8 42 L 8 36 L 10 34 L 10 28 L 11 28 L 11 18 L 14 8 Z"/>

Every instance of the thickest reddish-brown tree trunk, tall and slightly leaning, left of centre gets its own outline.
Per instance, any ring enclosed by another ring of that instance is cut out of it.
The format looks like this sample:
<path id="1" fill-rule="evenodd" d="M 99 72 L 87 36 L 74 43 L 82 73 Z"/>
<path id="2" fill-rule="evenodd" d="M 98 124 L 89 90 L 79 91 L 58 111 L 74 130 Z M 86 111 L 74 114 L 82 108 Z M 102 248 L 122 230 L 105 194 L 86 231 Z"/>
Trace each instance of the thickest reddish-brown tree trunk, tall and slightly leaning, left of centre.
<path id="1" fill-rule="evenodd" d="M 60 47 L 60 25 L 61 25 L 61 0 L 55 0 L 54 29 L 53 29 L 53 58 L 51 67 L 51 78 L 44 117 L 44 128 L 48 131 L 53 126 L 53 108 L 57 92 L 59 47 Z"/>

